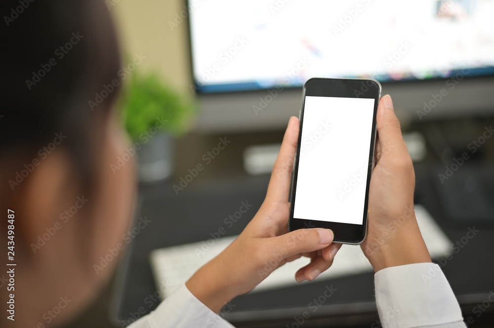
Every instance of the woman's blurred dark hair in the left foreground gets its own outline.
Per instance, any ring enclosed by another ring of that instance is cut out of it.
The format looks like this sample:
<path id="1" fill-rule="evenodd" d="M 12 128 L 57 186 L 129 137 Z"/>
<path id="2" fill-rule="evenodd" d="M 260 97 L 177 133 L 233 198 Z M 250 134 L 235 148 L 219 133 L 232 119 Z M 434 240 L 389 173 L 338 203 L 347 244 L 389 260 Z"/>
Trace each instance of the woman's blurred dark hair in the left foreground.
<path id="1" fill-rule="evenodd" d="M 115 87 L 101 103 L 95 99 L 121 67 L 109 10 L 103 0 L 3 0 L 0 7 L 2 161 L 8 154 L 36 158 L 62 132 L 61 146 L 88 190 L 103 124 L 119 93 Z M 94 110 L 89 101 L 98 104 Z"/>

